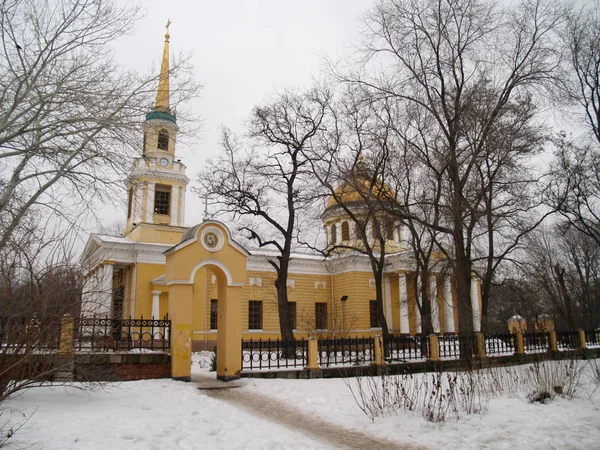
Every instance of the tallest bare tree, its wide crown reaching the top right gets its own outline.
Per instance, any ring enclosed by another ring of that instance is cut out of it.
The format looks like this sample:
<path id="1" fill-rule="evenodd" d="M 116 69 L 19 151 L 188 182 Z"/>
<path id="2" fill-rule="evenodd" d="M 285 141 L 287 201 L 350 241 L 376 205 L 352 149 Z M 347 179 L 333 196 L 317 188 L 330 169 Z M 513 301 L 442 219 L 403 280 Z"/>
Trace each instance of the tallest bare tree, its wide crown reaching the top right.
<path id="1" fill-rule="evenodd" d="M 495 149 L 493 133 L 514 104 L 556 81 L 561 55 L 551 33 L 563 20 L 562 11 L 541 0 L 511 10 L 483 0 L 381 1 L 366 21 L 364 65 L 337 73 L 374 99 L 396 100 L 415 124 L 411 132 L 419 139 L 410 143 L 423 170 L 435 175 L 429 179 L 441 183 L 434 189 L 441 215 L 429 223 L 404 213 L 448 236 L 437 244 L 452 263 L 460 333 L 473 331 L 471 276 L 486 217 L 479 187 Z"/>

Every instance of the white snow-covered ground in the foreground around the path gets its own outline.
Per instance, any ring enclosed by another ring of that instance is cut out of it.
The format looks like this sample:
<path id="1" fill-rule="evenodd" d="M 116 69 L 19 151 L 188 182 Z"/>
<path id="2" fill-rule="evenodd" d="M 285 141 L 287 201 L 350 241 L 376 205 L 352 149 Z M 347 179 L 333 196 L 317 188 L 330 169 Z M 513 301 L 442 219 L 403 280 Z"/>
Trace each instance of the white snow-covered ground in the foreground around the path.
<path id="1" fill-rule="evenodd" d="M 95 391 L 32 389 L 3 405 L 2 420 L 11 414 L 13 420 L 30 417 L 8 448 L 327 449 L 343 448 L 336 434 L 354 432 L 398 448 L 600 449 L 600 389 L 594 391 L 588 373 L 571 400 L 556 397 L 541 404 L 522 394 L 503 395 L 490 399 L 487 414 L 431 423 L 403 410 L 372 421 L 342 379 L 243 379 L 235 389 L 199 390 L 198 383 L 214 378 L 206 366 L 205 358 L 194 358 L 197 381 L 191 383 L 165 379 L 111 383 Z M 271 415 L 264 409 L 269 401 L 278 408 Z M 283 425 L 278 416 L 285 416 L 286 408 L 327 421 L 332 439 L 311 433 L 297 418 Z M 359 440 L 353 445 L 361 448 Z"/>

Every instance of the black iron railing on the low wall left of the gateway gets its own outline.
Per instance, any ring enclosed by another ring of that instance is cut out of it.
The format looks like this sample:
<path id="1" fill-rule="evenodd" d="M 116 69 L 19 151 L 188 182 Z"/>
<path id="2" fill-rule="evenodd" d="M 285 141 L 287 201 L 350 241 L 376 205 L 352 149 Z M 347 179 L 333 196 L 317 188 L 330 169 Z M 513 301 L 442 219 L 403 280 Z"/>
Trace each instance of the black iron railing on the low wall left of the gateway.
<path id="1" fill-rule="evenodd" d="M 170 348 L 171 321 L 158 319 L 75 319 L 74 348 L 77 351 L 131 351 Z"/>

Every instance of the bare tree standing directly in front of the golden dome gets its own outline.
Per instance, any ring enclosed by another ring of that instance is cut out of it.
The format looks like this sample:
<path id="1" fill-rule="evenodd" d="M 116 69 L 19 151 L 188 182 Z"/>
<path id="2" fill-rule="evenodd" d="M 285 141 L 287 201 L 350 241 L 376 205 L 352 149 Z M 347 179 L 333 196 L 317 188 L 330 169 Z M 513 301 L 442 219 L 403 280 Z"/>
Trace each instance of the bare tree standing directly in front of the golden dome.
<path id="1" fill-rule="evenodd" d="M 328 132 L 319 136 L 318 145 L 307 155 L 312 175 L 320 185 L 316 192 L 333 200 L 322 218 L 344 215 L 352 224 L 354 239 L 333 239 L 330 234 L 323 253 L 331 257 L 354 251 L 369 259 L 375 280 L 377 321 L 387 352 L 391 334 L 384 313 L 383 280 L 388 240 L 396 231 L 385 209 L 394 198 L 382 181 L 388 171 L 385 130 L 389 118 L 369 107 L 368 102 L 363 103 L 365 98 L 360 92 L 347 91 L 340 97 L 328 108 Z"/>

